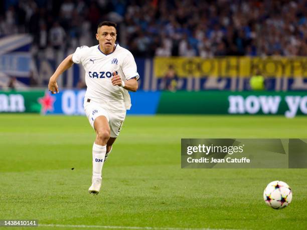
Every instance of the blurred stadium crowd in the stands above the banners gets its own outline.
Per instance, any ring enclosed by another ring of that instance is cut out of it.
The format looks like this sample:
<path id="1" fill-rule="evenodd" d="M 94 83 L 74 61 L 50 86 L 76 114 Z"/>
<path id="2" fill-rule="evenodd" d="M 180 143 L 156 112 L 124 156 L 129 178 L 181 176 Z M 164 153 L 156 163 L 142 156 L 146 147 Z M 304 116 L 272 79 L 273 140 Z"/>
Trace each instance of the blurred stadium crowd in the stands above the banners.
<path id="1" fill-rule="evenodd" d="M 6 2 L 6 3 L 5 3 Z M 7 0 L 0 36 L 41 50 L 94 45 L 101 20 L 135 56 L 307 55 L 307 0 Z"/>

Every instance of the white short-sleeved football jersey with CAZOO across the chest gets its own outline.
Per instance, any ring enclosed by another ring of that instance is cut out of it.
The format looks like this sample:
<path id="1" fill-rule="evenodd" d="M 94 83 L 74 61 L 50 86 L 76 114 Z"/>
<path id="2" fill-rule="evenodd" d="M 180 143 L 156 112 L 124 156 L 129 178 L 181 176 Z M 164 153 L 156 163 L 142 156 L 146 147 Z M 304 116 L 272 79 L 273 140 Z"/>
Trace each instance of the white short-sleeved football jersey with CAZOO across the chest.
<path id="1" fill-rule="evenodd" d="M 123 113 L 130 109 L 128 90 L 112 85 L 111 82 L 114 71 L 122 80 L 139 78 L 136 63 L 129 50 L 115 44 L 114 51 L 106 55 L 100 50 L 99 45 L 80 46 L 74 52 L 72 60 L 74 63 L 81 63 L 85 69 L 85 98 L 90 98 L 115 113 Z"/>

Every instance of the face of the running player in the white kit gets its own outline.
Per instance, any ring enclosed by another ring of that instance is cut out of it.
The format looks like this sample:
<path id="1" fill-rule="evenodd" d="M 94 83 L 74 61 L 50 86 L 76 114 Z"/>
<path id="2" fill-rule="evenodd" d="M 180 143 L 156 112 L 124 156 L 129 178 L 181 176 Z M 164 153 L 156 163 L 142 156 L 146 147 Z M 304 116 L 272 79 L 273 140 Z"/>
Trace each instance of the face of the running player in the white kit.
<path id="1" fill-rule="evenodd" d="M 116 41 L 116 29 L 113 26 L 102 25 L 97 29 L 96 39 L 103 52 L 111 52 Z"/>

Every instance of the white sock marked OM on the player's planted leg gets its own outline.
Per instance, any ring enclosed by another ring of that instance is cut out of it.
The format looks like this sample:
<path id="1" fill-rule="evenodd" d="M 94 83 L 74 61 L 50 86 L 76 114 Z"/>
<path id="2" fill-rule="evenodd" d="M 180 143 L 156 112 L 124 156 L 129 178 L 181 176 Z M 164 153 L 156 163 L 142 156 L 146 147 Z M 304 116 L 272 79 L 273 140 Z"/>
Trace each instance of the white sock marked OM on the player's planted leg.
<path id="1" fill-rule="evenodd" d="M 101 178 L 106 145 L 93 144 L 93 177 Z"/>

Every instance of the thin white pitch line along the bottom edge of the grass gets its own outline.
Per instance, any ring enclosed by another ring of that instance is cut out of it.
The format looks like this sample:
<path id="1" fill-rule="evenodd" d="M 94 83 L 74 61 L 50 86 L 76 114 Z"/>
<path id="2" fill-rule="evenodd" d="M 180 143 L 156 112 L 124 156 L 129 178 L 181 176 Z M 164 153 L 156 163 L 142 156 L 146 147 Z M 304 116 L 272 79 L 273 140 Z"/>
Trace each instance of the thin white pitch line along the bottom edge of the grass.
<path id="1" fill-rule="evenodd" d="M 39 227 L 76 227 L 76 228 L 117 228 L 117 229 L 147 229 L 147 230 L 240 230 L 228 228 L 179 228 L 179 227 L 134 227 L 105 225 L 72 225 L 72 224 L 38 224 Z"/>

